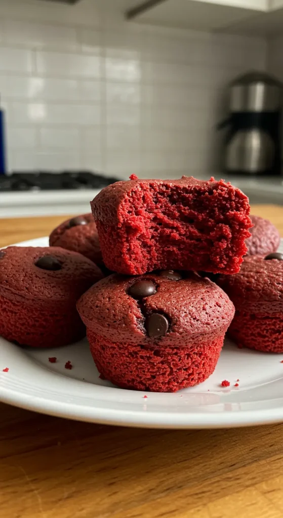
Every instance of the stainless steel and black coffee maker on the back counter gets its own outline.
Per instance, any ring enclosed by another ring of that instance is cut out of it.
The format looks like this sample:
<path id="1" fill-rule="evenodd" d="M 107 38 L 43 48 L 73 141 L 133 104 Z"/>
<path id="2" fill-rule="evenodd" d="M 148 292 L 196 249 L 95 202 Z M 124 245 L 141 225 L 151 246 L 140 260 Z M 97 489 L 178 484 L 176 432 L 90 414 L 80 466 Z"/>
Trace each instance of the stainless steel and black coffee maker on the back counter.
<path id="1" fill-rule="evenodd" d="M 281 174 L 282 84 L 262 72 L 251 72 L 229 85 L 230 117 L 224 169 L 234 174 Z"/>

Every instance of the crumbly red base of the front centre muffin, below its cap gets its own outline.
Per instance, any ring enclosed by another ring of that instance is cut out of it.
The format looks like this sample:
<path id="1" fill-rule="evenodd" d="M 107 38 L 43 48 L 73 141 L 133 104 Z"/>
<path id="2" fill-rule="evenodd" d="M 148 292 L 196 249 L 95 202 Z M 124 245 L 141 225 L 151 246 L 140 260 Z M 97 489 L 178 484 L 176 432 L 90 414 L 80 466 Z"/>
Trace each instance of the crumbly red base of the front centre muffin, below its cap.
<path id="1" fill-rule="evenodd" d="M 176 392 L 202 383 L 213 373 L 223 346 L 219 333 L 196 337 L 182 348 L 147 350 L 137 343 L 114 343 L 87 330 L 98 371 L 122 389 Z"/>

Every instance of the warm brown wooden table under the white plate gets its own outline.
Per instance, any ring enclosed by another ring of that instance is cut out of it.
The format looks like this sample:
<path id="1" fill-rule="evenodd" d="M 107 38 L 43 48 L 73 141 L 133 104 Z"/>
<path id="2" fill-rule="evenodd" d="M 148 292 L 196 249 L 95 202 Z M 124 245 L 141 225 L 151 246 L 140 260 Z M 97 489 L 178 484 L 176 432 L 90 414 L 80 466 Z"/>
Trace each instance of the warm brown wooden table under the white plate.
<path id="1" fill-rule="evenodd" d="M 254 206 L 283 236 L 283 207 Z M 63 218 L 0 220 L 0 246 Z M 283 425 L 143 430 L 0 404 L 1 518 L 281 518 Z"/>

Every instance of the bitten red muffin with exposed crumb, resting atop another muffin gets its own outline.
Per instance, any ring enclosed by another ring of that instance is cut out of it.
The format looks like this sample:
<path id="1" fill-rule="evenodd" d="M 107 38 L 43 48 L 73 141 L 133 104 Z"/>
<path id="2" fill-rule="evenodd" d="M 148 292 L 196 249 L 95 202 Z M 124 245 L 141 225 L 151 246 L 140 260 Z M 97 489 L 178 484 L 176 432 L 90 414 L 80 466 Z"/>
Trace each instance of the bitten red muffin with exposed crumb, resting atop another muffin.
<path id="1" fill-rule="evenodd" d="M 223 180 L 116 182 L 91 208 L 104 263 L 119 274 L 156 269 L 233 274 L 247 251 L 249 200 Z"/>

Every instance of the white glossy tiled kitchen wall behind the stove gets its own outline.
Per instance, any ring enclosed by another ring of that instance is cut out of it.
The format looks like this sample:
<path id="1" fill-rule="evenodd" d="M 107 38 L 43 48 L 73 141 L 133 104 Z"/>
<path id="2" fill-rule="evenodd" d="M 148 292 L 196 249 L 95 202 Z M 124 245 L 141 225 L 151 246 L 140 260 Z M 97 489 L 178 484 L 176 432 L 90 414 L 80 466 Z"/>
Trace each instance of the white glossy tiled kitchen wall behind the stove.
<path id="1" fill-rule="evenodd" d="M 225 87 L 265 68 L 266 41 L 126 23 L 123 3 L 0 0 L 10 170 L 217 170 Z"/>

